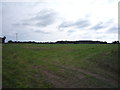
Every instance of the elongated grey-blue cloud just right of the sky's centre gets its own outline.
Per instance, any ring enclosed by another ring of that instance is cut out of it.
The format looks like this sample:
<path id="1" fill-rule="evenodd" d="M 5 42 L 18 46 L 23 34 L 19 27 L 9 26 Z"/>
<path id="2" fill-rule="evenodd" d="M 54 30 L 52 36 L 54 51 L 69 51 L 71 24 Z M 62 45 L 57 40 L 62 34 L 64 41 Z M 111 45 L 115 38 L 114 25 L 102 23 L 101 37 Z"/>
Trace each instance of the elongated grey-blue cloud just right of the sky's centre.
<path id="1" fill-rule="evenodd" d="M 68 28 L 68 27 L 76 27 L 76 28 L 85 28 L 90 25 L 89 20 L 87 19 L 79 19 L 75 22 L 63 22 L 59 25 L 59 28 Z"/>

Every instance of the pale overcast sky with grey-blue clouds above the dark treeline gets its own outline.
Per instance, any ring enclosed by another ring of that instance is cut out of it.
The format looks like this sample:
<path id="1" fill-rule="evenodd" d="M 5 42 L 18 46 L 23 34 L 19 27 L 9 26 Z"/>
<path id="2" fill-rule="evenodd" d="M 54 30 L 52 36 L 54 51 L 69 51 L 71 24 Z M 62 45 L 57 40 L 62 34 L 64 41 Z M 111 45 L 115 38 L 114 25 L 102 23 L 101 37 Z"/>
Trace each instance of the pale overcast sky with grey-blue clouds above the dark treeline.
<path id="1" fill-rule="evenodd" d="M 0 36 L 6 41 L 118 40 L 119 0 L 0 2 Z"/>

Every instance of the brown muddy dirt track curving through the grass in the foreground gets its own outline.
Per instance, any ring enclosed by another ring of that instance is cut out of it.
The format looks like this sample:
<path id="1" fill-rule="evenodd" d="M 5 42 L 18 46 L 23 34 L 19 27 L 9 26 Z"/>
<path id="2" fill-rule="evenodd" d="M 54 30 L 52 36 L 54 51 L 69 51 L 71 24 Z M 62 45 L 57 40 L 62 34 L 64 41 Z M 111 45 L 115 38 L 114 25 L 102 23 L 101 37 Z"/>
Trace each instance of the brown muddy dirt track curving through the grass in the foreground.
<path id="1" fill-rule="evenodd" d="M 36 66 L 37 69 L 40 70 L 40 72 L 43 74 L 45 77 L 45 80 L 49 83 L 51 83 L 55 88 L 95 88 L 95 86 L 89 86 L 88 81 L 90 80 L 89 78 L 86 78 L 86 75 L 89 75 L 93 78 L 96 78 L 97 80 L 103 81 L 104 83 L 107 83 L 108 85 L 111 85 L 113 87 L 116 87 L 117 82 L 112 80 L 112 79 L 106 79 L 98 74 L 83 70 L 83 69 L 78 69 L 70 66 L 63 66 L 63 65 L 56 65 L 57 67 L 60 67 L 63 70 L 68 70 L 71 72 L 69 73 L 69 76 L 65 75 L 64 77 L 56 74 L 52 71 L 45 70 L 45 66 Z M 86 84 L 82 84 L 80 81 L 84 80 Z M 94 82 L 95 83 L 95 82 Z M 106 87 L 106 86 L 105 86 Z M 96 88 L 100 88 L 99 86 Z M 108 86 L 109 88 L 109 86 Z"/>

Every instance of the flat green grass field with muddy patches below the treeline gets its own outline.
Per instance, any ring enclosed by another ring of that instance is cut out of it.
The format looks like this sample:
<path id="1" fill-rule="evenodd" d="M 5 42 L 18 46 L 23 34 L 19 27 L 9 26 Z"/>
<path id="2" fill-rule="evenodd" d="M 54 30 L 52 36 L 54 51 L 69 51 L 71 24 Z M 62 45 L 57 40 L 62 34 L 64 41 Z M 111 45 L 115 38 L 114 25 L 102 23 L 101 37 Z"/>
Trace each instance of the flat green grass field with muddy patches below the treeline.
<path id="1" fill-rule="evenodd" d="M 3 88 L 117 88 L 117 44 L 3 44 Z"/>

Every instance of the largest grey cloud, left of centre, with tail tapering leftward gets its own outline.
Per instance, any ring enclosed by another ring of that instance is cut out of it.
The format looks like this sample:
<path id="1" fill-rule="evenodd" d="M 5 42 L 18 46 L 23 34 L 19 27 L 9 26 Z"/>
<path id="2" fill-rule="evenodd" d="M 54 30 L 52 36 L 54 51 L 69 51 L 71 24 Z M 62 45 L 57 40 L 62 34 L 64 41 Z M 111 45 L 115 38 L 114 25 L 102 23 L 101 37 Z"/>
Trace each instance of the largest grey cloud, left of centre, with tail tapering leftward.
<path id="1" fill-rule="evenodd" d="M 34 17 L 22 20 L 21 23 L 15 23 L 14 26 L 37 26 L 46 27 L 55 22 L 57 13 L 51 9 L 41 10 Z"/>

